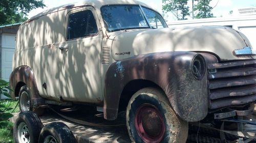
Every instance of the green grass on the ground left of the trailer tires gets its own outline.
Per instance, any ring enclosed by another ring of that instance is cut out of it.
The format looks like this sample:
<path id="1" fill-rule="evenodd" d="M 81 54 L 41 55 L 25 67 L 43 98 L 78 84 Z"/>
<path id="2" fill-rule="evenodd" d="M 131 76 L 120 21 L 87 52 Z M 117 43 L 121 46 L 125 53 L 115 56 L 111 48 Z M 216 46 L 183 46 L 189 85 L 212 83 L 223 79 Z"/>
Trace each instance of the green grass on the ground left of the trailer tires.
<path id="1" fill-rule="evenodd" d="M 10 99 L 5 99 L 5 100 L 0 100 L 0 104 L 4 105 L 6 108 L 13 108 L 12 110 L 9 110 L 7 112 L 19 112 L 18 106 L 15 108 L 17 105 L 18 101 L 10 100 Z M 4 121 L 6 122 L 5 127 L 0 127 L 0 142 L 1 143 L 11 143 L 13 141 L 13 123 Z"/>

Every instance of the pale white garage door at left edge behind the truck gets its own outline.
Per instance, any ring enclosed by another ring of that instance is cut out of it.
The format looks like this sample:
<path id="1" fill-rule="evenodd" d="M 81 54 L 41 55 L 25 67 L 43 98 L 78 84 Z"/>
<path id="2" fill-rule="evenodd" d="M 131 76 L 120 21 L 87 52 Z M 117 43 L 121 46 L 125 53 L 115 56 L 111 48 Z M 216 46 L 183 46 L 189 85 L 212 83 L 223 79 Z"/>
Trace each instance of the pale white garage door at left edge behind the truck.
<path id="1" fill-rule="evenodd" d="M 15 48 L 15 37 L 16 35 L 14 34 L 2 35 L 1 77 L 6 81 L 9 81 L 9 77 L 12 72 L 12 56 Z"/>

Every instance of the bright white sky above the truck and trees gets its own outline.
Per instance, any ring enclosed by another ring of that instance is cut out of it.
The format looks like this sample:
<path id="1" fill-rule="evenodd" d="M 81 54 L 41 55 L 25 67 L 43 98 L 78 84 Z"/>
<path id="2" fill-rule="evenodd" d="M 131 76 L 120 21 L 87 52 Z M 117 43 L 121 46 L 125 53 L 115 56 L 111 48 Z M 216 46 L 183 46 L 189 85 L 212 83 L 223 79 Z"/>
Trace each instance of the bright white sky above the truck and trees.
<path id="1" fill-rule="evenodd" d="M 54 8 L 57 6 L 80 2 L 81 0 L 44 0 L 45 5 L 47 6 L 44 9 L 38 8 L 32 10 L 28 17 L 32 17 L 42 11 L 45 11 L 50 8 Z M 118 1 L 118 0 L 116 0 Z M 143 3 L 146 3 L 147 5 L 150 5 L 151 7 L 155 8 L 158 12 L 162 14 L 162 0 L 139 0 Z M 188 6 L 191 7 L 191 0 L 188 1 Z M 256 7 L 256 0 L 212 0 L 210 2 L 210 6 L 214 7 L 212 9 L 212 13 L 215 17 L 226 17 L 229 16 L 229 11 L 235 10 L 238 8 L 245 8 L 245 7 Z M 168 21 L 175 21 L 176 18 L 172 14 L 167 14 Z M 188 19 L 191 19 L 191 17 L 187 17 Z"/>

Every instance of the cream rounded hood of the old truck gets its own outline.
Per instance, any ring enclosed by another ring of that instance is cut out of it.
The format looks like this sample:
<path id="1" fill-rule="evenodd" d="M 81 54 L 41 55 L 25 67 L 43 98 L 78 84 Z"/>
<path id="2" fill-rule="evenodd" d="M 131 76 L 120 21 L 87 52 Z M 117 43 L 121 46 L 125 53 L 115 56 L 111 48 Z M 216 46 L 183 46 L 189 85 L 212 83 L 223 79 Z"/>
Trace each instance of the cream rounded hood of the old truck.
<path id="1" fill-rule="evenodd" d="M 116 61 L 164 51 L 210 52 L 221 61 L 256 58 L 255 55 L 234 54 L 234 50 L 251 47 L 251 44 L 242 33 L 224 26 L 126 31 L 113 37 L 112 56 Z"/>

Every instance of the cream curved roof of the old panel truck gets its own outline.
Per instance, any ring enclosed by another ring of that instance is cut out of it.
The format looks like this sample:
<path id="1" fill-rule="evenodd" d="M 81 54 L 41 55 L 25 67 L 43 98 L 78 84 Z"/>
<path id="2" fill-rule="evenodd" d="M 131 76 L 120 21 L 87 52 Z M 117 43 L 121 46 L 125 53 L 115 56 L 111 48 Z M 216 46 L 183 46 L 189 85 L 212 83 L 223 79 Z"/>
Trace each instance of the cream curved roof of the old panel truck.
<path id="1" fill-rule="evenodd" d="M 57 12 L 57 11 L 61 11 L 61 10 L 65 10 L 65 9 L 69 9 L 69 8 L 74 8 L 74 7 L 82 7 L 82 6 L 93 6 L 95 9 L 100 9 L 102 6 L 104 5 L 121 5 L 121 4 L 131 4 L 131 5 L 141 5 L 141 6 L 145 6 L 151 9 L 154 9 L 142 2 L 136 1 L 136 0 L 84 0 L 78 3 L 71 3 L 71 4 L 66 4 L 66 5 L 62 5 L 59 7 L 55 7 L 55 8 L 51 8 L 48 9 L 44 12 L 41 12 L 33 17 L 31 17 L 30 19 L 28 19 L 27 21 L 31 21 L 33 19 L 36 19 L 40 16 L 44 16 L 53 12 Z M 154 9 L 155 10 L 155 9 Z"/>

